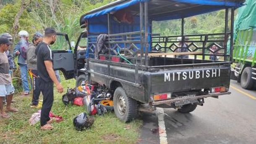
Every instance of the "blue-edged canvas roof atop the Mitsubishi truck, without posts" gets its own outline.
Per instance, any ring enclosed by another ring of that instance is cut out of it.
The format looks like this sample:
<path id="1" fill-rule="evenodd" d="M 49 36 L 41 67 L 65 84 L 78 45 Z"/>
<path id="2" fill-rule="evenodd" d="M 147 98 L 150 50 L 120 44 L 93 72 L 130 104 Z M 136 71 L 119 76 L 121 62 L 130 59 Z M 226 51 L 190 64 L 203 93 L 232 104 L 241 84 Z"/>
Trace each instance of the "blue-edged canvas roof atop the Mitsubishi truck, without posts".
<path id="1" fill-rule="evenodd" d="M 225 8 L 240 7 L 245 0 L 118 0 L 89 11 L 81 16 L 80 24 L 86 19 L 129 10 L 138 15 L 139 3 L 148 2 L 148 15 L 151 20 L 171 20 L 209 13 Z"/>

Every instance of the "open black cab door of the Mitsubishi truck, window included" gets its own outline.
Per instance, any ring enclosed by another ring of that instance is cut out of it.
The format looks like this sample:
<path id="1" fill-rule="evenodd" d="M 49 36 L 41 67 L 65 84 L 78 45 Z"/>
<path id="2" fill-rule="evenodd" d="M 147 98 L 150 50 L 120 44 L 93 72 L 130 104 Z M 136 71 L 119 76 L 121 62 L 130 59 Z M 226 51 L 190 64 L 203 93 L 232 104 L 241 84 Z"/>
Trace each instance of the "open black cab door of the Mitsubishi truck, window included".
<path id="1" fill-rule="evenodd" d="M 63 72 L 65 79 L 74 78 L 74 57 L 70 41 L 66 33 L 57 33 L 56 41 L 51 45 L 53 69 Z"/>

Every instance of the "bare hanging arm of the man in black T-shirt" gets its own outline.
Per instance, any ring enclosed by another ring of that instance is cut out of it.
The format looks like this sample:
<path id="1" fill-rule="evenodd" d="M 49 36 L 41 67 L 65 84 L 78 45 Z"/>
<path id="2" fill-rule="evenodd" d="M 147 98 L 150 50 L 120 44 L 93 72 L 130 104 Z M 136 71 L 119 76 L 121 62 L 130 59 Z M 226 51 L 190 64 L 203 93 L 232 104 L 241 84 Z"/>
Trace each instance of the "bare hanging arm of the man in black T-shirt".
<path id="1" fill-rule="evenodd" d="M 44 61 L 44 65 L 45 65 L 46 70 L 47 70 L 50 78 L 52 79 L 53 83 L 55 83 L 57 91 L 59 93 L 62 93 L 63 87 L 61 86 L 60 82 L 57 80 L 57 77 L 55 76 L 55 73 L 52 68 L 52 61 Z"/>

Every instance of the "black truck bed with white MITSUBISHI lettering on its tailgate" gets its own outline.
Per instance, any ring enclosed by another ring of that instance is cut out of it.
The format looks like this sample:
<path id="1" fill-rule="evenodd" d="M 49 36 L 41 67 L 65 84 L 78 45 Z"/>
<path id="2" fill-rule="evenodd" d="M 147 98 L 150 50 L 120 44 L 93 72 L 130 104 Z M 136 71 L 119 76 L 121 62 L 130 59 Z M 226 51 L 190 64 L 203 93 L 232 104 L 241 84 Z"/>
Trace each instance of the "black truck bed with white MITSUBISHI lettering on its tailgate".
<path id="1" fill-rule="evenodd" d="M 89 59 L 92 81 L 112 88 L 119 82 L 128 96 L 148 103 L 154 93 L 173 93 L 230 85 L 230 63 L 151 58 L 149 66 Z"/>

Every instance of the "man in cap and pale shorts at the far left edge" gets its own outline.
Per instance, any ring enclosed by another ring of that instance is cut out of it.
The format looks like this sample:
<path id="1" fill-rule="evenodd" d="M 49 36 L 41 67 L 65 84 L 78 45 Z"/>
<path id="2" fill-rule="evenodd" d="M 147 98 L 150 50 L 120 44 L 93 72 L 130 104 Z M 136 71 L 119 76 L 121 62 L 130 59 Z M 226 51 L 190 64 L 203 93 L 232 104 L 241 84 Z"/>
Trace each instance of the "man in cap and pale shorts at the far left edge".
<path id="1" fill-rule="evenodd" d="M 9 63 L 5 51 L 8 51 L 8 47 L 13 43 L 6 37 L 0 37 L 0 116 L 3 118 L 9 118 L 3 109 L 3 99 L 5 96 L 7 101 L 6 111 L 17 112 L 18 109 L 10 107 L 13 99 L 14 88 L 9 73 Z"/>

